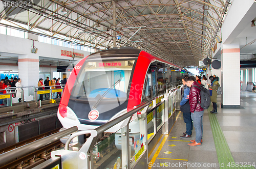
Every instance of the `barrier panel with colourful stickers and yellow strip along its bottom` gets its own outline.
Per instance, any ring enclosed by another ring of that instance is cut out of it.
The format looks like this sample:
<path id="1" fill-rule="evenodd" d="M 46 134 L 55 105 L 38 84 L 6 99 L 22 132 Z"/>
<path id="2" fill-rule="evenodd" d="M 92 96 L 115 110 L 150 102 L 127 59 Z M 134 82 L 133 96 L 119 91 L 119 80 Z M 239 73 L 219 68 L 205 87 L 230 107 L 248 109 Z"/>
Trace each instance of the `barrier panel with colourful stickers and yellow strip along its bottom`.
<path id="1" fill-rule="evenodd" d="M 146 148 L 146 114 L 141 114 L 138 118 L 134 119 L 129 124 L 130 137 L 130 154 L 131 154 L 131 167 L 136 163 L 136 161 L 142 156 Z M 132 141 L 132 142 L 131 142 Z"/>

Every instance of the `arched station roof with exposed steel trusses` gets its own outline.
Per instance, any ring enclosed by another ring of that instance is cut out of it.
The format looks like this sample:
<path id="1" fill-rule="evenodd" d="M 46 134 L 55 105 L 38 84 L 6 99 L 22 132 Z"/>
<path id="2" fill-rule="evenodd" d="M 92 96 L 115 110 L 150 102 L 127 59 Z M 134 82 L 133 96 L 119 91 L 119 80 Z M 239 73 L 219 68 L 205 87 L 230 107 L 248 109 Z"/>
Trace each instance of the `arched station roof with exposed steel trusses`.
<path id="1" fill-rule="evenodd" d="M 29 8 L 0 6 L 0 21 L 99 50 L 113 48 L 113 39 L 120 37 L 117 47 L 137 47 L 184 67 L 207 57 L 229 0 L 33 2 Z"/>

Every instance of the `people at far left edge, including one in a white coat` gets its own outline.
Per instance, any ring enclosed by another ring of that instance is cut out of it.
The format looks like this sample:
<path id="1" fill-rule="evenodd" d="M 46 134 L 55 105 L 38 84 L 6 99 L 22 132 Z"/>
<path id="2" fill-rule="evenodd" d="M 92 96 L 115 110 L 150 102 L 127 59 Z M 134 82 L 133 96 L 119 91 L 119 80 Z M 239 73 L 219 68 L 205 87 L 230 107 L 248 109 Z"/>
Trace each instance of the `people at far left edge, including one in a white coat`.
<path id="1" fill-rule="evenodd" d="M 15 87 L 22 87 L 22 80 L 20 78 L 13 78 L 10 79 L 6 76 L 4 79 L 1 79 L 0 81 L 0 94 L 6 94 L 7 90 L 6 88 L 15 88 Z M 12 89 L 11 92 L 14 92 L 15 89 Z M 17 88 L 17 92 L 12 94 L 12 97 L 17 97 L 18 101 L 22 101 L 22 91 L 20 88 Z M 4 103 L 5 102 L 5 103 Z M 0 99 L 0 106 L 9 105 L 9 102 L 7 99 Z"/>

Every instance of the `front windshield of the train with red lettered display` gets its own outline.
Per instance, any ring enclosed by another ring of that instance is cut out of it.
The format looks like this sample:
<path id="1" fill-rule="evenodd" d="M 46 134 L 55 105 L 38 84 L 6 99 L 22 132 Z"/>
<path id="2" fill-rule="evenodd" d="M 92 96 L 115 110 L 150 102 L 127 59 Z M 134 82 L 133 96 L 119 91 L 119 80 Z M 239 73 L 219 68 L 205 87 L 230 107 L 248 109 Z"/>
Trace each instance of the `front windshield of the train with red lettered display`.
<path id="1" fill-rule="evenodd" d="M 91 57 L 85 61 L 73 87 L 72 100 L 89 101 L 90 107 L 109 104 L 108 111 L 127 100 L 129 82 L 136 58 Z"/>

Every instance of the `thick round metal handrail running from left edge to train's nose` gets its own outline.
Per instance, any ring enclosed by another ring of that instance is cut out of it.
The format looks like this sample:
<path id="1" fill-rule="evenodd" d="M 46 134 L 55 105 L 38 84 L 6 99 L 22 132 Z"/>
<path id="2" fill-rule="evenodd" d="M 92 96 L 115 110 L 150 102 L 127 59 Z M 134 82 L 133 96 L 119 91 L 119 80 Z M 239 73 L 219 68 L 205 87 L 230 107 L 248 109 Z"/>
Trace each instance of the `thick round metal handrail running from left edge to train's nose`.
<path id="1" fill-rule="evenodd" d="M 0 159 L 1 159 L 0 160 L 0 166 L 3 166 L 4 164 L 15 160 L 17 157 L 21 157 L 23 155 L 31 153 L 31 152 L 37 150 L 38 148 L 40 148 L 42 146 L 46 146 L 50 143 L 53 143 L 56 140 L 66 136 L 66 135 L 69 135 L 73 132 L 76 132 L 77 129 L 78 128 L 76 126 L 73 126 L 73 127 L 69 128 L 69 129 L 66 129 L 64 131 L 60 131 L 58 133 L 47 136 L 45 138 L 36 140 L 35 142 L 32 142 L 32 143 L 27 144 L 25 146 L 22 146 L 22 147 L 14 149 L 14 150 L 8 151 L 4 154 L 0 154 Z"/>

